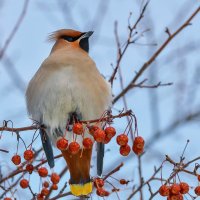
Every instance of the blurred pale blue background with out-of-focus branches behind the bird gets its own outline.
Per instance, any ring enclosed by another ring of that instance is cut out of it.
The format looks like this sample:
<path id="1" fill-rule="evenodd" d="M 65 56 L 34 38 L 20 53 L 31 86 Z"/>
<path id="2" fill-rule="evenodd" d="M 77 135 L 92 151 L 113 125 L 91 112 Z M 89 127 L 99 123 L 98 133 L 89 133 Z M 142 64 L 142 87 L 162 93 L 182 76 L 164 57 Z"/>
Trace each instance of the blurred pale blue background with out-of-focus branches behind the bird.
<path id="1" fill-rule="evenodd" d="M 118 35 L 123 45 L 129 34 L 128 19 L 130 24 L 134 24 L 145 3 L 146 1 L 142 0 L 21 0 L 17 2 L 0 0 L 0 122 L 12 120 L 14 127 L 31 125 L 32 122 L 26 112 L 25 90 L 29 80 L 50 53 L 53 45 L 47 41 L 50 33 L 63 28 L 83 32 L 93 30 L 94 34 L 90 38 L 90 56 L 95 60 L 99 71 L 109 79 L 117 60 L 114 23 L 115 21 L 118 23 Z M 124 86 L 167 39 L 166 27 L 174 32 L 198 6 L 197 0 L 150 1 L 143 19 L 137 26 L 138 34 L 148 31 L 129 46 L 120 64 Z M 141 157 L 144 180 L 153 174 L 155 166 L 161 165 L 166 154 L 174 160 L 179 160 L 188 139 L 190 143 L 185 152 L 186 160 L 200 155 L 199 33 L 200 15 L 197 15 L 192 20 L 192 26 L 188 26 L 178 34 L 139 79 L 139 81 L 148 79 L 146 85 L 155 85 L 160 81 L 172 82 L 172 85 L 151 89 L 133 88 L 125 96 L 128 109 L 132 109 L 137 117 L 139 134 L 146 141 L 145 154 Z M 6 48 L 5 44 L 8 44 Z M 2 49 L 4 49 L 3 54 Z M 113 84 L 113 95 L 118 95 L 120 91 L 119 74 L 117 74 Z M 117 114 L 118 110 L 123 108 L 124 103 L 121 98 L 114 104 L 113 113 Z M 126 118 L 117 119 L 113 124 L 117 133 L 123 133 L 126 125 Z M 21 133 L 21 137 L 27 143 L 31 142 L 32 136 L 33 131 Z M 41 147 L 40 138 L 33 146 L 36 150 Z M 3 132 L 0 148 L 9 150 L 9 154 L 0 153 L 0 170 L 4 177 L 15 169 L 10 158 L 16 152 L 16 135 Z M 21 155 L 24 149 L 23 144 L 20 143 Z M 59 151 L 54 148 L 54 153 L 57 155 Z M 41 153 L 40 158 L 43 157 Z M 95 150 L 93 157 L 92 175 L 95 176 Z M 109 181 L 117 188 L 120 187 L 119 198 L 126 199 L 132 193 L 133 187 L 137 188 L 140 184 L 138 158 L 133 153 L 128 157 L 122 157 L 113 140 L 106 145 L 104 174 L 121 162 L 124 162 L 124 167 L 113 177 L 125 178 L 131 182 L 127 186 L 119 186 L 114 179 L 110 178 Z M 62 171 L 62 166 L 65 166 L 65 161 L 58 159 L 55 171 Z M 171 166 L 166 165 L 163 176 L 168 178 L 171 172 Z M 160 177 L 160 174 L 157 177 Z M 197 185 L 193 177 L 181 174 L 180 177 L 187 180 L 191 186 Z M 63 175 L 60 187 L 68 179 L 68 173 Z M 9 184 L 12 181 L 9 180 Z M 30 176 L 30 182 L 33 191 L 38 192 L 39 176 Z M 160 187 L 160 181 L 153 181 L 151 187 L 156 191 Z M 109 190 L 111 187 L 108 184 L 106 188 Z M 69 191 L 69 187 L 65 191 Z M 1 193 L 3 191 L 0 195 Z M 56 192 L 53 196 L 55 194 Z M 143 199 L 149 199 L 149 196 L 148 187 L 145 186 Z M 32 198 L 28 190 L 22 191 L 20 188 L 15 193 L 15 197 Z M 95 194 L 91 198 L 99 199 Z M 140 194 L 138 193 L 135 198 L 139 199 Z M 72 197 L 69 196 L 68 199 Z M 117 196 L 112 193 L 106 199 L 117 199 Z M 159 200 L 161 197 L 155 196 L 154 199 Z"/>

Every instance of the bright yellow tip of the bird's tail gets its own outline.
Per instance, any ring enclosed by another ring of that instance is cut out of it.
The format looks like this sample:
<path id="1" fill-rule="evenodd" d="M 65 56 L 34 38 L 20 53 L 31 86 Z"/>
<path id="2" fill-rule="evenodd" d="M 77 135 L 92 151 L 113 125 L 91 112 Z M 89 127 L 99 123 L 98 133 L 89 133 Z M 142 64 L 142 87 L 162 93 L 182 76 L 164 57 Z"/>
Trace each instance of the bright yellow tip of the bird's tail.
<path id="1" fill-rule="evenodd" d="M 70 184 L 71 193 L 74 196 L 88 195 L 92 192 L 92 182 L 82 184 Z"/>

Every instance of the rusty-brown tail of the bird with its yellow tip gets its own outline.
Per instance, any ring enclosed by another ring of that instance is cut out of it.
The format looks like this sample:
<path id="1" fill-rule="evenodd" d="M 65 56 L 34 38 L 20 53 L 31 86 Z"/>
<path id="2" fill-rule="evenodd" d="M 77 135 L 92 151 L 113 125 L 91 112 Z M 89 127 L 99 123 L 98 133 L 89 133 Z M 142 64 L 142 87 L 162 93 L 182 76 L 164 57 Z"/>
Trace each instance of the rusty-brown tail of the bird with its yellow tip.
<path id="1" fill-rule="evenodd" d="M 88 195 L 92 192 L 90 179 L 90 161 L 92 149 L 83 149 L 72 155 L 68 150 L 62 151 L 70 171 L 70 190 L 75 196 Z"/>

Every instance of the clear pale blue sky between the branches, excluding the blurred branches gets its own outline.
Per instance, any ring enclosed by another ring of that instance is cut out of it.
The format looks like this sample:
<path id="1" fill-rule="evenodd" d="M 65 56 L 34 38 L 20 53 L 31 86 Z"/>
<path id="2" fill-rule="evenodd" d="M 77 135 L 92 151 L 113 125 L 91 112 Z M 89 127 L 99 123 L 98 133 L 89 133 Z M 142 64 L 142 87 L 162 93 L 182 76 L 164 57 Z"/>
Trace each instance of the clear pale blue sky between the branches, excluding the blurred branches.
<path id="1" fill-rule="evenodd" d="M 0 45 L 2 46 L 21 13 L 24 1 L 1 0 L 1 2 Z M 26 87 L 28 81 L 34 75 L 41 62 L 48 56 L 52 43 L 47 42 L 46 39 L 49 33 L 57 29 L 72 28 L 80 31 L 93 30 L 94 34 L 90 42 L 90 55 L 95 60 L 100 72 L 104 76 L 109 77 L 112 73 L 111 63 L 116 63 L 117 53 L 114 38 L 114 21 L 118 21 L 119 36 L 123 43 L 128 34 L 127 19 L 129 13 L 133 13 L 131 22 L 135 22 L 139 15 L 142 1 L 109 0 L 103 4 L 99 3 L 100 0 L 63 0 L 62 2 L 68 2 L 70 12 L 65 9 L 64 13 L 62 13 L 63 7 L 61 8 L 58 5 L 58 1 L 55 0 L 30 1 L 27 14 L 6 51 L 6 56 L 12 60 L 14 67 L 22 78 L 20 82 L 21 89 L 13 84 L 13 79 L 11 79 L 8 70 L 5 69 L 9 67 L 5 65 L 5 59 L 0 62 L 0 121 L 11 119 L 16 127 L 30 125 L 31 121 L 27 118 L 26 114 L 23 89 Z M 102 6 L 101 12 L 98 10 L 99 5 Z M 158 46 L 133 45 L 130 47 L 121 65 L 125 85 L 131 80 L 135 71 L 148 60 L 150 55 L 152 55 L 167 38 L 164 32 L 165 28 L 169 27 L 172 32 L 176 30 L 198 5 L 199 3 L 196 0 L 152 0 L 150 2 L 144 20 L 138 26 L 138 31 L 141 32 L 144 29 L 150 28 L 151 32 L 145 34 L 140 42 L 145 44 L 157 43 Z M 98 12 L 100 12 L 100 17 L 96 18 Z M 199 76 L 197 76 L 195 83 L 192 82 L 196 69 L 200 67 L 200 51 L 198 47 L 200 41 L 199 22 L 200 15 L 192 21 L 192 26 L 183 30 L 174 41 L 169 44 L 157 58 L 156 64 L 153 63 L 151 65 L 151 68 L 156 65 L 156 83 L 158 81 L 174 83 L 170 87 L 159 88 L 156 91 L 156 94 L 159 96 L 160 129 L 164 129 L 173 119 L 181 117 L 184 112 L 195 111 L 200 108 Z M 188 44 L 193 45 L 195 50 L 186 55 L 179 53 L 180 49 Z M 175 52 L 173 53 L 173 51 Z M 171 60 L 173 55 L 177 56 L 177 58 Z M 148 76 L 149 72 L 147 71 L 140 80 L 148 78 Z M 183 82 L 184 77 L 185 81 Z M 188 96 L 191 94 L 189 92 L 191 92 L 190 90 L 194 84 L 194 88 L 197 92 L 195 99 L 190 96 L 192 99 L 190 100 Z M 181 88 L 177 89 L 179 85 Z M 113 93 L 116 95 L 119 91 L 119 81 L 116 80 Z M 177 98 L 177 96 L 180 98 Z M 134 91 L 128 93 L 127 101 L 128 107 L 132 109 L 137 116 L 139 134 L 148 140 L 151 138 L 154 133 L 153 130 L 155 129 L 151 121 L 152 115 L 150 113 L 151 104 L 149 100 L 149 91 L 147 89 L 134 89 Z M 193 102 L 192 105 L 191 101 Z M 122 109 L 122 101 L 119 101 L 115 105 L 115 108 Z M 117 132 L 120 133 L 126 127 L 126 120 L 116 120 L 114 126 L 117 128 Z M 22 133 L 22 135 L 27 141 L 30 141 L 32 137 L 32 133 Z M 176 129 L 175 134 L 171 134 L 169 137 L 165 137 L 156 142 L 143 156 L 144 177 L 148 178 L 153 173 L 153 167 L 155 165 L 159 166 L 165 154 L 169 154 L 173 158 L 178 158 L 187 139 L 190 139 L 191 142 L 186 157 L 190 159 L 199 156 L 200 148 L 198 137 L 199 124 L 195 123 Z M 0 140 L 0 147 L 9 148 L 10 156 L 16 148 L 14 144 L 16 144 L 16 139 L 11 137 L 10 133 L 4 134 L 3 140 Z M 35 145 L 39 147 L 41 145 L 40 141 L 38 140 Z M 23 146 L 21 146 L 21 148 L 21 152 L 23 152 Z M 110 167 L 113 168 L 114 164 L 117 166 L 117 164 L 121 162 L 120 159 L 122 159 L 114 141 L 108 145 L 108 148 L 110 148 L 111 151 L 106 153 L 105 174 L 111 169 Z M 58 153 L 59 152 L 55 149 L 55 154 Z M 2 158 L 0 158 L 0 160 L 1 159 Z M 11 169 L 14 169 L 14 167 L 11 164 L 9 165 L 9 169 L 6 169 L 10 158 L 3 157 L 3 159 L 3 163 L 5 163 L 3 166 L 5 167 L 3 167 L 2 170 L 6 174 Z M 58 163 L 60 166 L 65 164 L 62 160 Z M 60 169 L 58 169 L 58 171 L 60 171 Z M 92 173 L 94 175 L 93 170 Z M 167 173 L 170 173 L 170 171 Z M 129 159 L 125 162 L 125 166 L 116 174 L 116 177 L 127 179 L 129 177 L 134 177 L 134 184 L 138 184 L 137 159 L 133 154 L 129 156 Z M 31 179 L 33 180 L 34 178 L 31 177 Z M 192 185 L 196 184 L 193 179 L 189 180 Z M 64 183 L 64 181 L 62 181 L 62 183 Z M 130 194 L 132 185 L 133 183 L 128 186 L 129 190 L 125 188 L 119 193 L 122 199 Z M 156 190 L 158 187 L 159 184 L 155 184 L 153 189 Z M 37 191 L 38 186 L 33 186 L 33 189 Z M 21 192 L 21 190 L 19 190 L 19 192 Z M 25 197 L 29 199 L 29 194 L 25 192 L 25 195 L 27 195 Z M 148 195 L 148 188 L 145 188 L 145 200 L 148 199 Z M 108 199 L 112 198 L 116 198 L 114 194 Z M 94 196 L 94 199 L 98 198 Z M 155 199 L 160 199 L 160 197 L 156 197 Z"/>

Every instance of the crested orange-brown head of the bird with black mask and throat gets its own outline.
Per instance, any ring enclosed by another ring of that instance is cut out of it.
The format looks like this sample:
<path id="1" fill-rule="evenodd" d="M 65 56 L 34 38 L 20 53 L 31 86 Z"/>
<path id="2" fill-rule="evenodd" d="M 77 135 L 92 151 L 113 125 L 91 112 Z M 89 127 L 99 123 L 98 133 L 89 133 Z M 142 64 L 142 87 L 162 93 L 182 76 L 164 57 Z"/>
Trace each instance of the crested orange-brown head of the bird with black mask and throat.
<path id="1" fill-rule="evenodd" d="M 61 48 L 81 48 L 86 52 L 89 52 L 89 37 L 93 34 L 93 31 L 80 32 L 72 29 L 61 29 L 55 31 L 49 36 L 49 40 L 56 41 L 52 48 L 52 52 Z"/>

